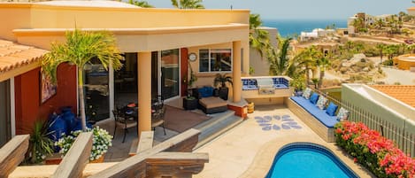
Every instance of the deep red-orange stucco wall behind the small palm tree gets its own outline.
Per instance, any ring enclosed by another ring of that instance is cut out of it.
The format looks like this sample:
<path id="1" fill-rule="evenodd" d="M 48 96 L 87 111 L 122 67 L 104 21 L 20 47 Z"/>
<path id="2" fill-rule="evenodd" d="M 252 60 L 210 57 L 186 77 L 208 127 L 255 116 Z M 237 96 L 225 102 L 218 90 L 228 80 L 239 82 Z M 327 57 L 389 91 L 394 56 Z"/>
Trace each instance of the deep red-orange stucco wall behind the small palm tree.
<path id="1" fill-rule="evenodd" d="M 40 104 L 40 68 L 16 76 L 16 134 L 31 132 L 35 120 L 46 120 L 52 112 L 59 112 L 63 106 L 72 106 L 76 111 L 76 67 L 63 64 L 58 66 L 57 94 Z"/>

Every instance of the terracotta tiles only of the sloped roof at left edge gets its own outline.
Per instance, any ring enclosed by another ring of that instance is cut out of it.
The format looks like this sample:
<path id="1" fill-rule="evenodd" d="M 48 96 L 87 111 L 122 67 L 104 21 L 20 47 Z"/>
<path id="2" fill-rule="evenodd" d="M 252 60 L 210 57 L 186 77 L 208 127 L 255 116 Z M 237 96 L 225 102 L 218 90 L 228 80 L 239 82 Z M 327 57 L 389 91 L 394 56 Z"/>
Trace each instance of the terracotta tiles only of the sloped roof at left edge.
<path id="1" fill-rule="evenodd" d="M 0 39 L 0 74 L 39 61 L 48 50 Z"/>

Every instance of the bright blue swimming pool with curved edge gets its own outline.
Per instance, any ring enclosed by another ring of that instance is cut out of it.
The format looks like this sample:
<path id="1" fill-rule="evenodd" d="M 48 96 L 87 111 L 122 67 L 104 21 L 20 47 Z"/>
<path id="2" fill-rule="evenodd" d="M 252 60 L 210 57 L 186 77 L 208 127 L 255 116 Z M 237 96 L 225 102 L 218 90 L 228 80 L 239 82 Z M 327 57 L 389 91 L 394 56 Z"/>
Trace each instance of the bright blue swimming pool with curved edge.
<path id="1" fill-rule="evenodd" d="M 314 143 L 290 143 L 273 160 L 273 166 L 266 178 L 355 178 L 350 168 L 338 159 L 332 151 Z"/>

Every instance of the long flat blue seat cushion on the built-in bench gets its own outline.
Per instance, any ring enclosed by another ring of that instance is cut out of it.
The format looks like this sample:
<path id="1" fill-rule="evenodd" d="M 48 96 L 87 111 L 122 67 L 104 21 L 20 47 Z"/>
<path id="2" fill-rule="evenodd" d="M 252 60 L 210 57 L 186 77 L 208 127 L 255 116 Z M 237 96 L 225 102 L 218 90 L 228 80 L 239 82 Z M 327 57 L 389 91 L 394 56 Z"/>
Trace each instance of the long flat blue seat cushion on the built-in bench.
<path id="1" fill-rule="evenodd" d="M 296 102 L 296 104 L 303 107 L 305 111 L 309 112 L 327 128 L 334 128 L 334 125 L 338 122 L 336 120 L 336 116 L 329 116 L 326 113 L 326 110 L 320 110 L 319 107 L 311 104 L 311 102 L 304 97 L 291 97 L 291 99 Z"/>

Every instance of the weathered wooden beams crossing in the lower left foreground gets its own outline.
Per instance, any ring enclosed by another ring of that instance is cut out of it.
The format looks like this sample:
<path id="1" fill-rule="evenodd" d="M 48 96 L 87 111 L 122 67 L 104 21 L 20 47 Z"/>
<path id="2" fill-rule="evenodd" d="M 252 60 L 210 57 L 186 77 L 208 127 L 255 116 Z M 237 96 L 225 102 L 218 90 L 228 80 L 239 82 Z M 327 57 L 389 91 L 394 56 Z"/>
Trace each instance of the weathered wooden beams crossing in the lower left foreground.
<path id="1" fill-rule="evenodd" d="M 28 135 L 18 135 L 0 150 L 0 177 L 186 178 L 201 172 L 204 163 L 209 161 L 207 153 L 192 153 L 200 135 L 197 129 L 189 129 L 155 146 L 153 134 L 142 132 L 140 142 L 135 142 L 135 155 L 128 159 L 118 163 L 88 164 L 92 134 L 81 133 L 58 166 L 18 166 L 24 159 L 29 139 Z"/>

